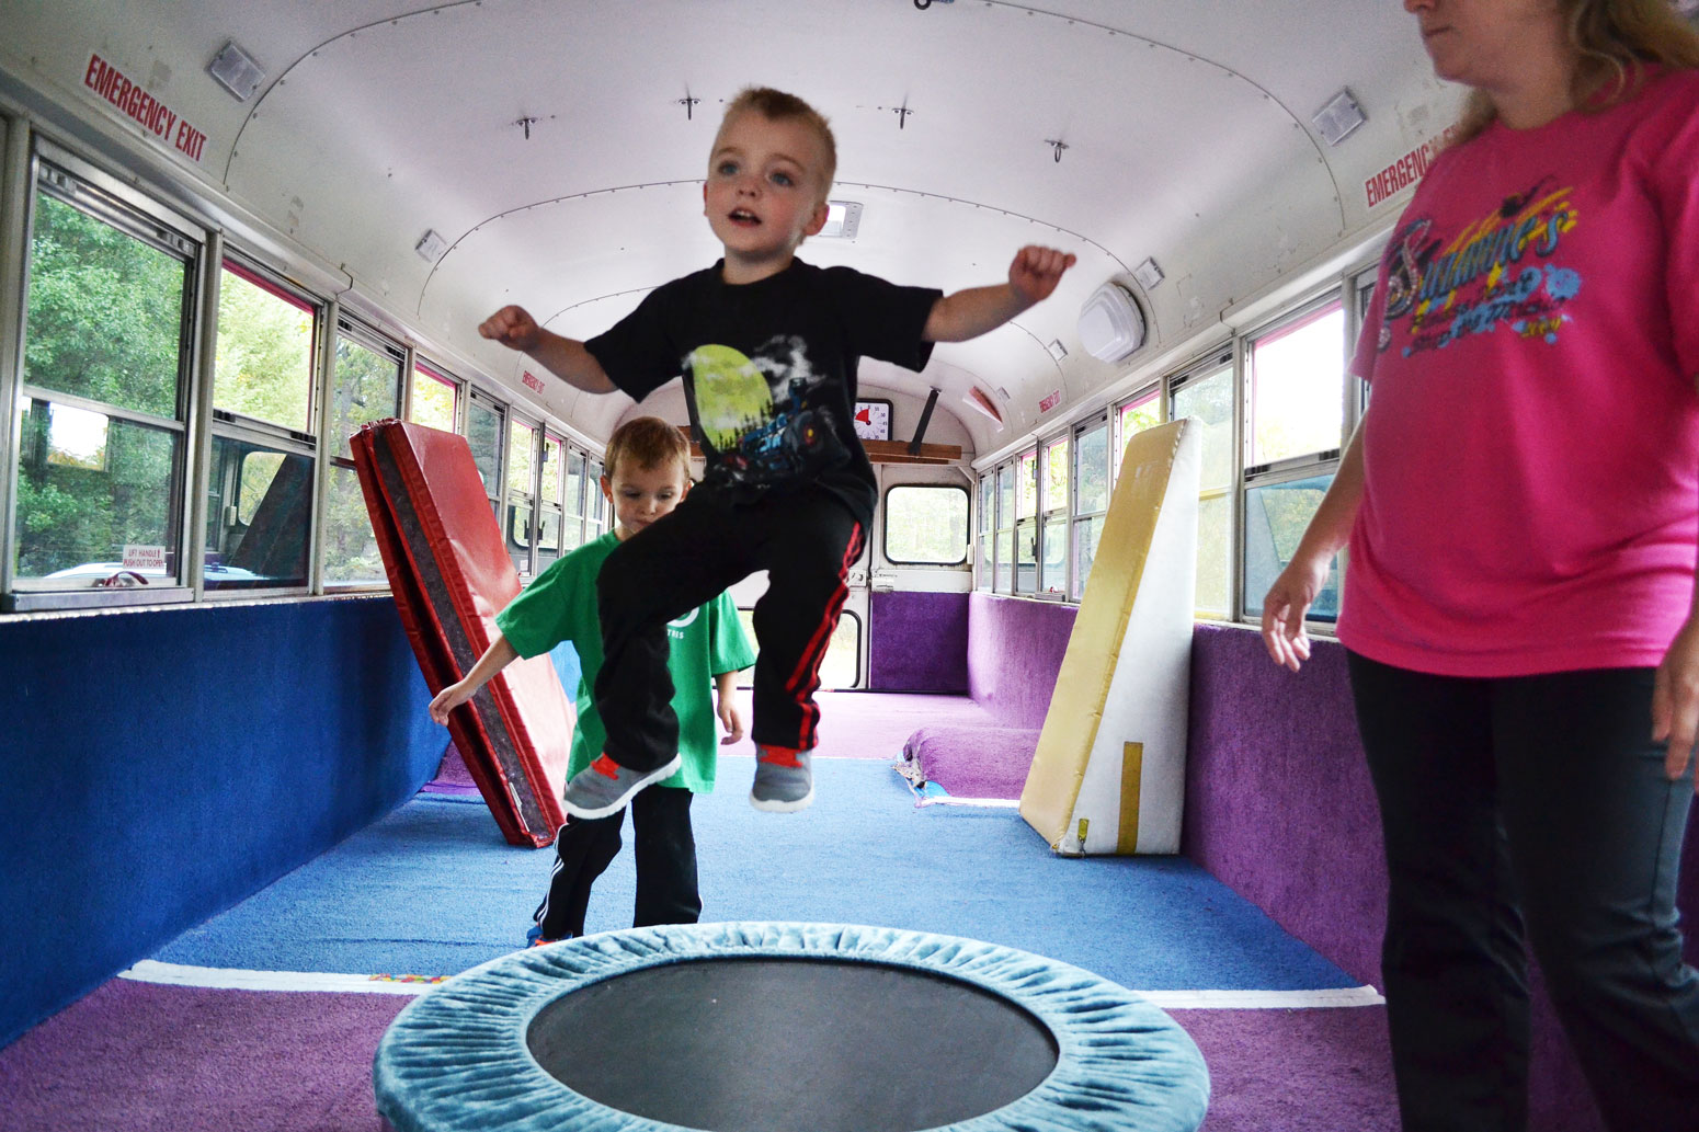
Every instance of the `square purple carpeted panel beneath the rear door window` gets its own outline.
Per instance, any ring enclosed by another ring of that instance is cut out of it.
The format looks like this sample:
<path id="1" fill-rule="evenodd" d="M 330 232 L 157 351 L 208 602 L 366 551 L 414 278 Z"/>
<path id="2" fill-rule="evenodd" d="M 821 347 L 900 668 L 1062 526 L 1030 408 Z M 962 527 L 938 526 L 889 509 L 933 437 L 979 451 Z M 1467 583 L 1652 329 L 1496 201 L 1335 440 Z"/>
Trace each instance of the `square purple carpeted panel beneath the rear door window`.
<path id="1" fill-rule="evenodd" d="M 967 692 L 967 593 L 873 593 L 866 687 Z"/>

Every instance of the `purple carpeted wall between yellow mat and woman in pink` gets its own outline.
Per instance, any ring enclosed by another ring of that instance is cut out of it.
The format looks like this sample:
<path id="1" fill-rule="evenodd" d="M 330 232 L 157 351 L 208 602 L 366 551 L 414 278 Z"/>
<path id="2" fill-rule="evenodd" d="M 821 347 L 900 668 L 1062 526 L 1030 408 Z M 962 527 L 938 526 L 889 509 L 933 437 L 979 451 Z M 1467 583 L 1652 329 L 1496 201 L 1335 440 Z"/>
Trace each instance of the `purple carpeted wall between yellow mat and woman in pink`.
<path id="1" fill-rule="evenodd" d="M 1344 649 L 1334 641 L 1313 648 L 1291 673 L 1269 661 L 1257 632 L 1198 625 L 1181 852 L 1352 977 L 1380 986 L 1386 867 L 1374 792 Z M 1687 959 L 1699 962 L 1699 836 L 1687 838 L 1679 903 Z M 1532 1127 L 1602 1127 L 1538 971 L 1531 1071 Z"/>

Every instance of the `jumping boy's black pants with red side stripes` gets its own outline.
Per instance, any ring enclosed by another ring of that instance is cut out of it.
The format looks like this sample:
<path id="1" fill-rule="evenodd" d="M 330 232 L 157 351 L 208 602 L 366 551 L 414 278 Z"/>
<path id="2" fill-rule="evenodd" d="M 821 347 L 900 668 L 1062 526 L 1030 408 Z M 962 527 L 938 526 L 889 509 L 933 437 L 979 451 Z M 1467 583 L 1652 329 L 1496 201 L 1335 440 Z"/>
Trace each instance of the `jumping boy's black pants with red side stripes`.
<path id="1" fill-rule="evenodd" d="M 812 488 L 734 503 L 698 486 L 671 515 L 622 542 L 596 581 L 603 658 L 595 692 L 608 758 L 652 770 L 678 753 L 666 622 L 758 569 L 768 573 L 768 586 L 754 607 L 761 651 L 751 736 L 765 746 L 810 750 L 821 719 L 814 704 L 821 659 L 860 554 L 861 524 Z"/>

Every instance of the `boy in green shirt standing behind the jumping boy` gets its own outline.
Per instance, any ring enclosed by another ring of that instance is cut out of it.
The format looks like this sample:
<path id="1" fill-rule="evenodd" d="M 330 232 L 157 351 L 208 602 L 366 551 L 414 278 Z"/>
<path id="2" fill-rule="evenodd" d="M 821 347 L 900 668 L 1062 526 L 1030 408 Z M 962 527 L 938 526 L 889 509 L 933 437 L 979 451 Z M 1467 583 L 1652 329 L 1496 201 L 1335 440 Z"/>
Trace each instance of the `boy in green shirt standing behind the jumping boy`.
<path id="1" fill-rule="evenodd" d="M 601 753 L 607 733 L 588 688 L 601 670 L 601 620 L 596 614 L 596 574 L 620 542 L 661 518 L 690 490 L 690 447 L 678 428 L 654 416 L 620 425 L 608 439 L 601 493 L 618 524 L 542 571 L 532 585 L 496 615 L 501 631 L 466 678 L 443 688 L 430 704 L 440 724 L 472 699 L 491 676 L 520 656 L 547 653 L 562 641 L 578 649 L 583 671 L 578 683 L 578 727 L 567 773 L 578 773 Z M 678 714 L 678 773 L 632 795 L 632 850 L 637 855 L 637 911 L 632 926 L 695 923 L 702 914 L 697 891 L 697 841 L 690 828 L 691 794 L 714 789 L 714 717 L 727 734 L 742 739 L 732 678 L 754 663 L 754 651 L 737 620 L 729 593 L 685 614 L 666 627 L 671 644 L 673 710 Z M 708 682 L 717 709 L 708 704 Z M 607 818 L 567 818 L 556 836 L 556 865 L 549 894 L 532 916 L 533 943 L 584 933 L 590 886 L 620 852 L 625 811 Z"/>

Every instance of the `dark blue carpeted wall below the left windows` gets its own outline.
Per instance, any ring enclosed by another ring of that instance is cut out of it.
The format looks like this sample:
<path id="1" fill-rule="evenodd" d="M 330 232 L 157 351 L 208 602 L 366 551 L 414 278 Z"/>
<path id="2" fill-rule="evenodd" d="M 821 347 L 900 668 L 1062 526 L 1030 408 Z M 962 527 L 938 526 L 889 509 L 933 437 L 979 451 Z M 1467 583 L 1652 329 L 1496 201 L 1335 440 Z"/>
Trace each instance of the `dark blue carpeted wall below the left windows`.
<path id="1" fill-rule="evenodd" d="M 411 797 L 387 597 L 0 619 L 0 1045 Z"/>

